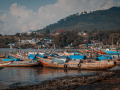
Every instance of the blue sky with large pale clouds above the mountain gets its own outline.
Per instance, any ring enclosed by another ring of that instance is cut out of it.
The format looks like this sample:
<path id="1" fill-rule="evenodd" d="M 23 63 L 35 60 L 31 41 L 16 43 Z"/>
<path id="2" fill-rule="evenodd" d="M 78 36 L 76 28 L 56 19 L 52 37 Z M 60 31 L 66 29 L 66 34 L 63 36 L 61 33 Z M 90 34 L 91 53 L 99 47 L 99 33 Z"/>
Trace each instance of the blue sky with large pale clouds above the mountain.
<path id="1" fill-rule="evenodd" d="M 0 0 L 0 34 L 39 30 L 67 16 L 120 6 L 120 0 Z"/>

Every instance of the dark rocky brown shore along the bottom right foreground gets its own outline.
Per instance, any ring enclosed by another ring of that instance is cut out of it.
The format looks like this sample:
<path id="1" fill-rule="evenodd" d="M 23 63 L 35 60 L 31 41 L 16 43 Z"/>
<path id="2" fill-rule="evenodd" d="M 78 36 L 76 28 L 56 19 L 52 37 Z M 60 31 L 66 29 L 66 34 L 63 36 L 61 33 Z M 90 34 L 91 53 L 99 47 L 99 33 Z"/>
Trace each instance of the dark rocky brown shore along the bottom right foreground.
<path id="1" fill-rule="evenodd" d="M 120 70 L 102 71 L 94 75 L 65 76 L 7 90 L 120 90 Z"/>

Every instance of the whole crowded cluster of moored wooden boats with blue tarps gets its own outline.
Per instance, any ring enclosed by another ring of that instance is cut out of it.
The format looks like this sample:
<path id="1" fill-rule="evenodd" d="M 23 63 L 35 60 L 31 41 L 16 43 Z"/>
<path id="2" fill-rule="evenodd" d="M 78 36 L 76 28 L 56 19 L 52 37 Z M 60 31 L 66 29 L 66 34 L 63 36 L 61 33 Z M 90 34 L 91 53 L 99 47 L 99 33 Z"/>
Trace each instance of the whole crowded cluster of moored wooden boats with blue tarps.
<path id="1" fill-rule="evenodd" d="M 98 53 L 95 50 L 92 51 Z M 109 69 L 116 64 L 120 64 L 119 53 L 114 55 L 108 55 L 105 53 L 98 54 L 96 58 L 90 58 L 86 53 L 83 54 L 81 52 L 69 53 L 49 51 L 44 53 L 29 52 L 28 54 L 16 52 L 11 53 L 7 58 L 5 58 L 4 54 L 0 56 L 0 58 L 2 58 L 0 60 L 0 68 L 5 66 L 44 66 L 61 69 L 97 70 Z"/>

